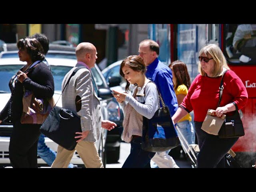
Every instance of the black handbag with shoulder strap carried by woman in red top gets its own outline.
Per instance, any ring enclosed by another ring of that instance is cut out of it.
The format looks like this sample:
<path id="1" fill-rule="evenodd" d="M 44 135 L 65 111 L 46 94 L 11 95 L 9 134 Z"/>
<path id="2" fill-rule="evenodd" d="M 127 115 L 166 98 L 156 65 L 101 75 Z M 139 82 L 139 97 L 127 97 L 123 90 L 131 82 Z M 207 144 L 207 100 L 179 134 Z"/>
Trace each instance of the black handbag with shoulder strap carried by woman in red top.
<path id="1" fill-rule="evenodd" d="M 218 102 L 218 107 L 220 106 L 220 101 L 222 98 L 222 92 L 224 89 L 223 77 L 226 72 L 227 71 L 225 71 L 223 73 L 222 79 L 220 81 L 220 98 L 219 98 L 219 102 Z M 233 137 L 244 136 L 244 126 L 243 126 L 243 122 L 240 118 L 238 110 L 236 110 L 233 115 L 226 116 L 226 119 L 225 119 L 224 123 L 222 124 L 220 131 L 218 132 L 218 136 L 219 136 L 219 138 L 233 138 Z"/>

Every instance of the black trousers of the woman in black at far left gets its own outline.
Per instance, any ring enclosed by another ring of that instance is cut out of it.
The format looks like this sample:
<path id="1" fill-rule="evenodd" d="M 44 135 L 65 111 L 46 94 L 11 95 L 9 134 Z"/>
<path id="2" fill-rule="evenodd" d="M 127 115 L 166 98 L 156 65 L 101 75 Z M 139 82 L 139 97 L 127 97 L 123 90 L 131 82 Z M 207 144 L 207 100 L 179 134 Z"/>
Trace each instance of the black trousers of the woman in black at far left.
<path id="1" fill-rule="evenodd" d="M 37 143 L 41 124 L 14 122 L 9 158 L 13 168 L 37 168 Z"/>

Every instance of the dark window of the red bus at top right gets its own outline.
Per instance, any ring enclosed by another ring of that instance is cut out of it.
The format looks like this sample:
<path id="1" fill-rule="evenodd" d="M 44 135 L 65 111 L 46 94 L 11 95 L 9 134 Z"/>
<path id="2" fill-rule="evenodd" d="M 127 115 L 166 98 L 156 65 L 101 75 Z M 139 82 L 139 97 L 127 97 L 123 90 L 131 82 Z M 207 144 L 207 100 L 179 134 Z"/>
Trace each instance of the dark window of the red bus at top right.
<path id="1" fill-rule="evenodd" d="M 227 24 L 224 35 L 230 64 L 255 64 L 256 24 Z"/>

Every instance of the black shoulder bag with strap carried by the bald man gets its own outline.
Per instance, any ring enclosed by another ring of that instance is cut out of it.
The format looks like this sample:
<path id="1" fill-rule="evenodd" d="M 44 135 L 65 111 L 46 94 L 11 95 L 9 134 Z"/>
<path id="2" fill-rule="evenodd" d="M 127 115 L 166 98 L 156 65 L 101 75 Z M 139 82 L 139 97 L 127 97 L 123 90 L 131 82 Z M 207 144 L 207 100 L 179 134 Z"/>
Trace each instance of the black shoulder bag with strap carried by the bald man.
<path id="1" fill-rule="evenodd" d="M 62 93 L 68 85 L 71 77 L 74 76 L 74 74 L 76 74 L 76 72 L 81 68 L 85 67 L 78 67 L 73 71 L 64 86 Z M 71 110 L 54 106 L 53 110 L 40 127 L 40 132 L 63 148 L 67 150 L 74 150 L 77 144 L 76 141 L 80 139 L 74 138 L 77 136 L 75 133 L 82 132 L 80 117 L 74 114 Z"/>

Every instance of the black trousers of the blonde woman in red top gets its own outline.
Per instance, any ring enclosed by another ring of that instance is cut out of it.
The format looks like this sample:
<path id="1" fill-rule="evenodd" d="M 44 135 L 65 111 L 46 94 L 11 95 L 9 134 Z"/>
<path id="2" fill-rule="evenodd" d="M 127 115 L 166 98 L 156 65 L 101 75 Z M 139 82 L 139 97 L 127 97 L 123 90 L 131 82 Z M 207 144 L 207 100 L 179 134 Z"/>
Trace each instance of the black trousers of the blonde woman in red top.
<path id="1" fill-rule="evenodd" d="M 238 140 L 221 139 L 218 135 L 206 133 L 201 129 L 203 122 L 194 122 L 200 152 L 197 156 L 197 168 L 225 168 L 224 156 Z"/>

